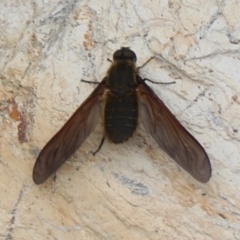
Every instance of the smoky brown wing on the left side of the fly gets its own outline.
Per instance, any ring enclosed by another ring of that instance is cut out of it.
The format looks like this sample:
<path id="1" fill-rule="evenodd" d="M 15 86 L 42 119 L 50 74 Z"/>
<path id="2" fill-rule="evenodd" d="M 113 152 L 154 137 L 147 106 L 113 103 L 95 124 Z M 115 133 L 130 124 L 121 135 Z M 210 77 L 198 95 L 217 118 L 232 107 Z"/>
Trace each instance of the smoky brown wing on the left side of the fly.
<path id="1" fill-rule="evenodd" d="M 94 130 L 101 115 L 104 92 L 103 80 L 42 149 L 33 168 L 36 184 L 43 183 L 55 172 Z"/>

